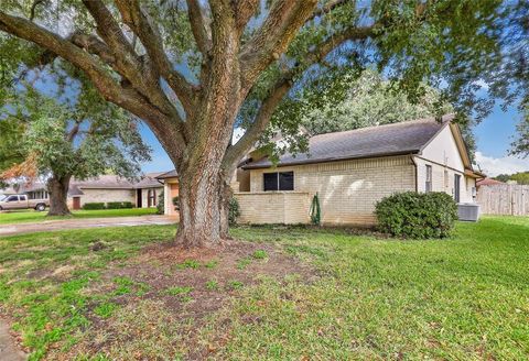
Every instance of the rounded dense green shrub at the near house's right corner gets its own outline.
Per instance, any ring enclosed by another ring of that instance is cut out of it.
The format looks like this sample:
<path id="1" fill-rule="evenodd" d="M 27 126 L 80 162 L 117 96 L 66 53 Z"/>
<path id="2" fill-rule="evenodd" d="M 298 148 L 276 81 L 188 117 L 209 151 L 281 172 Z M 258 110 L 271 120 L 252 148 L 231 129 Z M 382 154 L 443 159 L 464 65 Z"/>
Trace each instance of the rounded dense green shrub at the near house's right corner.
<path id="1" fill-rule="evenodd" d="M 457 205 L 445 193 L 397 193 L 377 203 L 380 231 L 402 238 L 444 238 L 457 219 Z"/>

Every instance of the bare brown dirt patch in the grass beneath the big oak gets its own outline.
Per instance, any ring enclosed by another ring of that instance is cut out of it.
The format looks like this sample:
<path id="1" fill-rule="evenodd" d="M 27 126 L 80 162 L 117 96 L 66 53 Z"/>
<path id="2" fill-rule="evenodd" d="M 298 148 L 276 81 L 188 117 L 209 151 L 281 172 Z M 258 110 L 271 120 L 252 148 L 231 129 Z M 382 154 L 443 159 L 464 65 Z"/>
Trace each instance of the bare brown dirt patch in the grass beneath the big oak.
<path id="1" fill-rule="evenodd" d="M 209 316 L 263 277 L 282 282 L 292 275 L 303 282 L 317 277 L 313 267 L 271 243 L 228 241 L 195 251 L 172 243 L 149 247 L 105 273 L 99 289 L 90 289 L 110 295 L 106 302 L 118 309 L 99 317 L 100 305 L 93 305 L 88 335 L 68 357 L 101 352 L 111 359 L 155 359 L 163 349 L 168 358 L 205 358 L 209 351 L 197 343 L 197 335 Z"/>

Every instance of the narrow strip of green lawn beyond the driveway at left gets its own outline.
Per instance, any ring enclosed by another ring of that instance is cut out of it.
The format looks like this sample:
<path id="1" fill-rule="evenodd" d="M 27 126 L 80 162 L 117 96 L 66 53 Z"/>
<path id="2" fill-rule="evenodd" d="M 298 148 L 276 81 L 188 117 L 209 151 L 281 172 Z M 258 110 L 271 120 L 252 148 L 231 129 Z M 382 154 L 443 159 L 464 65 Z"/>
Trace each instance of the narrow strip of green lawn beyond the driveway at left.
<path id="1" fill-rule="evenodd" d="M 155 208 L 130 208 L 130 209 L 100 209 L 100 210 L 74 210 L 73 216 L 47 217 L 47 211 L 20 210 L 0 212 L 0 225 L 8 223 L 33 223 L 55 219 L 99 218 L 99 217 L 127 217 L 154 215 Z"/>

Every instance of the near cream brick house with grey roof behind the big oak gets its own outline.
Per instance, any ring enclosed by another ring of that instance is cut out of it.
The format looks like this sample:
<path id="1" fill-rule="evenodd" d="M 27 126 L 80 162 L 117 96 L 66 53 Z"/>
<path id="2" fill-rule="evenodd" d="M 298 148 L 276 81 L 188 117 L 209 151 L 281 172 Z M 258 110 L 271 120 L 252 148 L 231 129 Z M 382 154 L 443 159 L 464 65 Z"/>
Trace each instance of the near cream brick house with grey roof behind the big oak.
<path id="1" fill-rule="evenodd" d="M 284 154 L 278 164 L 258 152 L 233 183 L 241 223 L 309 223 L 319 195 L 324 225 L 374 225 L 375 205 L 396 192 L 445 192 L 474 203 L 476 172 L 451 116 L 314 135 L 307 154 Z M 175 171 L 164 180 L 165 212 L 174 214 Z"/>

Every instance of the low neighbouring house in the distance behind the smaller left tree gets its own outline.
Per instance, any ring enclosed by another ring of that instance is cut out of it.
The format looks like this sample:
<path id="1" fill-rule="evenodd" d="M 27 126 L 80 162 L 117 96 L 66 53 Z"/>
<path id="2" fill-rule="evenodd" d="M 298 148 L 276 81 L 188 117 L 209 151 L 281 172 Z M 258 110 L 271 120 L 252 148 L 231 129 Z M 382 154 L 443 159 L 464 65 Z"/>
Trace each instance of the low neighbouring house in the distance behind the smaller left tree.
<path id="1" fill-rule="evenodd" d="M 145 174 L 139 182 L 130 182 L 116 175 L 101 175 L 86 180 L 72 179 L 68 189 L 68 207 L 80 209 L 87 203 L 130 201 L 134 207 L 155 207 L 163 185 L 155 178 L 162 173 Z M 47 199 L 43 183 L 21 185 L 6 194 L 26 194 L 30 199 Z"/>

